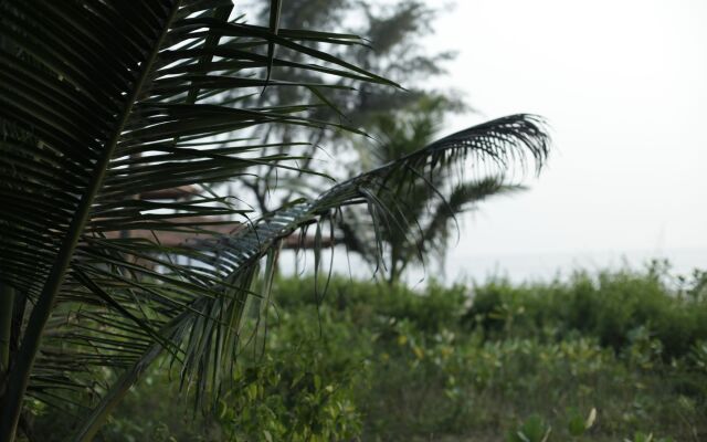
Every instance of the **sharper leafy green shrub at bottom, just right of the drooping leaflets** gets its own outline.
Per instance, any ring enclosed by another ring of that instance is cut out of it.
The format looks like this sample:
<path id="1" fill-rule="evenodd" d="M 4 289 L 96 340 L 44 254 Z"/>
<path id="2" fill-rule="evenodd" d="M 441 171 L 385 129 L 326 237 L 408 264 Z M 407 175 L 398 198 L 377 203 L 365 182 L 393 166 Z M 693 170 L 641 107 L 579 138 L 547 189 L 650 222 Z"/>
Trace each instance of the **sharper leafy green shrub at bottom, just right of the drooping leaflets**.
<path id="1" fill-rule="evenodd" d="M 331 365 L 317 345 L 276 350 L 239 369 L 218 415 L 233 440 L 348 440 L 361 431 L 351 400 L 358 367 Z M 340 367 L 336 370 L 335 368 Z"/>

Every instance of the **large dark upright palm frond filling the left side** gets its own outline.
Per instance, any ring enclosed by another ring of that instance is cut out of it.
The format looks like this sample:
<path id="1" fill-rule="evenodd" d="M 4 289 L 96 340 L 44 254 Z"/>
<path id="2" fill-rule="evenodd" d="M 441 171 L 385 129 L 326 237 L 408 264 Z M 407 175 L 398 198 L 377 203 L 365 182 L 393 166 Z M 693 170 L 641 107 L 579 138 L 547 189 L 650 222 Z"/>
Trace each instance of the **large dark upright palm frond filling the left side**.
<path id="1" fill-rule="evenodd" d="M 310 64 L 298 64 L 304 69 L 392 84 L 306 45 L 357 38 L 278 32 L 276 20 L 268 28 L 245 25 L 230 19 L 231 9 L 230 1 L 0 4 L 0 284 L 31 302 L 2 398 L 0 439 L 14 433 L 35 358 L 38 370 L 49 369 L 52 339 L 66 337 L 45 333 L 53 315 L 77 303 L 94 309 L 87 324 L 97 334 L 73 347 L 101 349 L 108 356 L 83 352 L 82 360 L 119 367 L 129 346 L 102 338 L 101 327 L 128 320 L 155 340 L 176 311 L 196 309 L 194 298 L 223 296 L 230 286 L 208 269 L 176 264 L 177 256 L 194 257 L 192 249 L 166 251 L 130 232 L 208 234 L 208 223 L 179 219 L 242 215 L 243 209 L 199 196 L 175 207 L 140 194 L 226 181 L 256 165 L 297 168 L 296 157 L 266 156 L 262 146 L 219 137 L 262 124 L 328 125 L 307 117 L 318 105 L 243 108 L 238 101 L 220 103 L 220 94 L 264 85 L 338 87 L 274 78 L 273 70 L 288 63 L 275 57 L 281 45 L 305 54 Z M 108 238 L 114 231 L 125 238 Z M 166 254 L 169 260 L 155 257 Z"/>

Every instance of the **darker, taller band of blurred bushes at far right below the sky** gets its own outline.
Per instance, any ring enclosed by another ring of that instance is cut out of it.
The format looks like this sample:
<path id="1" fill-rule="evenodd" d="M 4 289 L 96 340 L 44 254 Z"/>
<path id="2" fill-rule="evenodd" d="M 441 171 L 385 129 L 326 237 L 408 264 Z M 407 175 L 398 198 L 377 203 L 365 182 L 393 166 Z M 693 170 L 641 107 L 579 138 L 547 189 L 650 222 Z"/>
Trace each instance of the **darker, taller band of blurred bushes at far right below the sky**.
<path id="1" fill-rule="evenodd" d="M 476 287 L 468 325 L 495 336 L 536 336 L 557 339 L 592 336 L 616 350 L 636 340 L 655 340 L 665 360 L 689 352 L 707 335 L 705 297 L 694 295 L 703 284 L 699 273 L 693 288 L 676 291 L 666 269 L 654 263 L 646 273 L 579 272 L 571 283 L 513 286 L 497 280 Z"/>

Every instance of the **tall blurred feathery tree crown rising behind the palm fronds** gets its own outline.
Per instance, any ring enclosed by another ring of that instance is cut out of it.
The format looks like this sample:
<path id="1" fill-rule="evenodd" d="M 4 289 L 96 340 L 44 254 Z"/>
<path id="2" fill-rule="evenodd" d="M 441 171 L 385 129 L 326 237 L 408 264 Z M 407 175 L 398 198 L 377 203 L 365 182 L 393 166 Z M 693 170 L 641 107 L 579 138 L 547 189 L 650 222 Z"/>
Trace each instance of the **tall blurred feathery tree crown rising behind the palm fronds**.
<path id="1" fill-rule="evenodd" d="M 336 84 L 340 88 L 328 90 L 326 96 L 312 86 L 281 87 L 268 94 L 253 96 L 258 105 L 286 106 L 303 101 L 315 101 L 319 107 L 310 112 L 310 117 L 319 122 L 336 122 L 342 127 L 366 131 L 378 115 L 404 109 L 414 105 L 421 97 L 430 94 L 440 95 L 439 91 L 423 88 L 421 85 L 431 77 L 445 72 L 445 62 L 452 60 L 451 52 L 428 53 L 421 42 L 432 32 L 432 23 L 437 13 L 419 0 L 399 0 L 388 6 L 370 0 L 293 0 L 282 11 L 283 28 L 298 29 L 334 29 L 338 32 L 363 35 L 367 45 L 331 46 L 326 42 L 316 43 L 316 48 L 330 52 L 344 60 L 354 61 L 358 66 L 371 72 L 381 72 L 402 84 L 405 91 L 379 87 L 376 84 L 363 84 L 356 75 L 340 76 Z M 268 8 L 257 1 L 252 7 L 256 10 L 258 21 L 268 18 Z M 278 55 L 288 60 L 306 63 L 306 54 L 278 49 Z M 312 85 L 325 84 L 330 74 L 321 71 L 303 70 L 294 64 L 275 63 L 273 78 Z M 330 81 L 329 81 L 330 82 Z M 350 87 L 357 93 L 351 94 Z M 452 104 L 453 99 L 447 97 Z M 461 102 L 454 103 L 454 109 L 462 109 Z M 334 109 L 334 112 L 333 112 Z M 350 130 L 321 127 L 303 130 L 292 125 L 271 125 L 257 128 L 257 136 L 266 140 L 289 144 L 293 140 L 306 139 L 306 146 L 299 146 L 303 160 L 300 166 L 307 169 L 314 162 L 321 167 L 325 159 L 329 165 L 328 172 L 335 178 L 342 178 L 341 164 L 331 161 L 331 155 L 352 151 Z M 305 137 L 303 137 L 305 135 Z M 287 147 L 292 151 L 292 146 Z M 324 149 L 327 154 L 321 154 Z M 273 154 L 281 154 L 281 148 L 273 148 Z M 255 176 L 242 177 L 241 183 L 254 196 L 260 210 L 267 211 L 279 207 L 284 201 L 297 194 L 312 194 L 318 186 L 312 179 L 303 180 L 300 171 L 284 171 L 270 166 L 262 167 Z M 273 189 L 279 188 L 279 193 Z M 285 190 L 287 189 L 287 190 Z"/>

